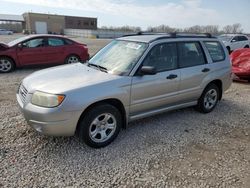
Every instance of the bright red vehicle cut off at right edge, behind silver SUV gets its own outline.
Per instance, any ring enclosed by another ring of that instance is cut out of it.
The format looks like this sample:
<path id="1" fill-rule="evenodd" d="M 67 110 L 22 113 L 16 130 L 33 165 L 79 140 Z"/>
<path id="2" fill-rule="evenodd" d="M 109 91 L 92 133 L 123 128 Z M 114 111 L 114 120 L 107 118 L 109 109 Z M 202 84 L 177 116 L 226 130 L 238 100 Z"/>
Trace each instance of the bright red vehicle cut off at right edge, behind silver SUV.
<path id="1" fill-rule="evenodd" d="M 250 82 L 250 49 L 238 49 L 231 53 L 232 71 L 236 79 L 248 80 Z"/>

